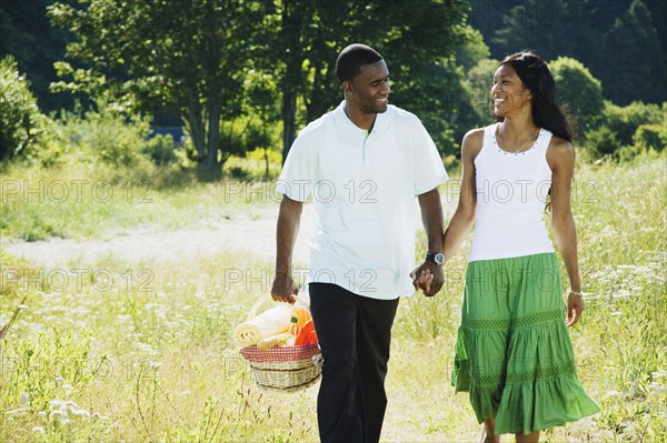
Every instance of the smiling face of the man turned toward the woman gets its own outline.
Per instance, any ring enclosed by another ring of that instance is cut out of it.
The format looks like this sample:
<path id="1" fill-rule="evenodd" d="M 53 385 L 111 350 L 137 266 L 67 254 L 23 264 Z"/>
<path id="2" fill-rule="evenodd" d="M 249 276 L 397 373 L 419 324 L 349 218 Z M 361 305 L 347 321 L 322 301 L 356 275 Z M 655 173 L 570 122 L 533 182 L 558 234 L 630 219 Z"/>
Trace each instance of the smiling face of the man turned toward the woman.
<path id="1" fill-rule="evenodd" d="M 389 70 L 385 60 L 364 64 L 361 73 L 345 87 L 348 104 L 357 112 L 377 114 L 387 111 L 389 103 Z"/>

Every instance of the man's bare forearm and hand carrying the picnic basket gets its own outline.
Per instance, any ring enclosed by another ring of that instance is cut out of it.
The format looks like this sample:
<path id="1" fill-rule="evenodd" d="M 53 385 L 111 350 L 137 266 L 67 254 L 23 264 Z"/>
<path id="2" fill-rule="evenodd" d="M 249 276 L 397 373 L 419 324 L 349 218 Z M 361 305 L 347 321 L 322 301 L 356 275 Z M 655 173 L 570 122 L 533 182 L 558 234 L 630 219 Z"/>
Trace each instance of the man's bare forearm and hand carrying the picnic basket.
<path id="1" fill-rule="evenodd" d="M 292 252 L 302 209 L 302 202 L 282 197 L 276 233 L 276 278 L 271 288 L 271 296 L 279 302 L 295 303 L 295 295 L 299 293 L 292 279 Z"/>

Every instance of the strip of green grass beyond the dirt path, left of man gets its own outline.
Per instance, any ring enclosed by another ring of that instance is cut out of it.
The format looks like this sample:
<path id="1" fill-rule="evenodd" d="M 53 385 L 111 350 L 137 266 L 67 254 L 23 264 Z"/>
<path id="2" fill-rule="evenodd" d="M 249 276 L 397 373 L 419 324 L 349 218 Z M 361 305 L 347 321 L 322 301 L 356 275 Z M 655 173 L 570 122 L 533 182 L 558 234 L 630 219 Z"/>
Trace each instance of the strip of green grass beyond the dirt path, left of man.
<path id="1" fill-rule="evenodd" d="M 198 182 L 193 173 L 106 165 L 34 169 L 0 177 L 0 235 L 24 241 L 109 238 L 130 228 L 178 229 L 276 211 L 275 182 Z"/>

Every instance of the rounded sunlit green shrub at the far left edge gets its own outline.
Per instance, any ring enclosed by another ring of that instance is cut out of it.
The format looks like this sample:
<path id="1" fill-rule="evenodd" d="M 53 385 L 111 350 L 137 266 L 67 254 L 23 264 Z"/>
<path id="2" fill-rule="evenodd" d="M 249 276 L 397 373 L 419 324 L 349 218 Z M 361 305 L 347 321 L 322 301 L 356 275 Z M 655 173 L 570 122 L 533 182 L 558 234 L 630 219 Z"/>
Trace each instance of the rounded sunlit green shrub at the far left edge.
<path id="1" fill-rule="evenodd" d="M 29 87 L 11 56 L 0 60 L 0 160 L 27 155 L 44 132 L 48 119 Z"/>

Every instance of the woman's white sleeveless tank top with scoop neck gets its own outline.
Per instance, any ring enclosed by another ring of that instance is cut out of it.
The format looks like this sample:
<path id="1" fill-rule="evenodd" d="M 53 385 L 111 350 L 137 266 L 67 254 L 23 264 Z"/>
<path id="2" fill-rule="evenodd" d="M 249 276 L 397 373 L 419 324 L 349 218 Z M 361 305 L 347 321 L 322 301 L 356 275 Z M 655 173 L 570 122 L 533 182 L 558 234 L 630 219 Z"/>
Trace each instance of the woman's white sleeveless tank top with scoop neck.
<path id="1" fill-rule="evenodd" d="M 551 132 L 540 129 L 532 147 L 511 153 L 496 142 L 498 124 L 485 128 L 475 159 L 477 221 L 468 261 L 554 252 L 544 222 L 551 188 Z"/>

